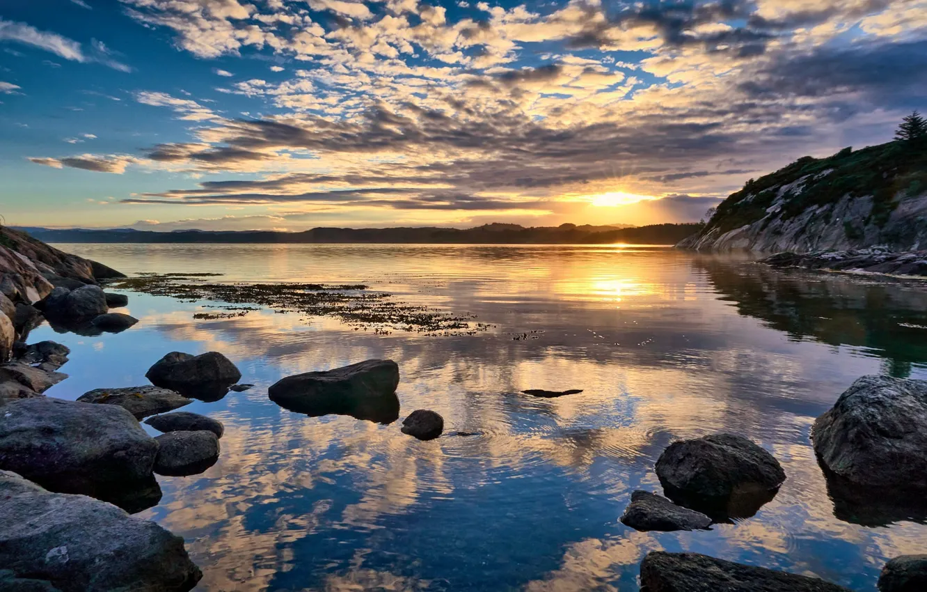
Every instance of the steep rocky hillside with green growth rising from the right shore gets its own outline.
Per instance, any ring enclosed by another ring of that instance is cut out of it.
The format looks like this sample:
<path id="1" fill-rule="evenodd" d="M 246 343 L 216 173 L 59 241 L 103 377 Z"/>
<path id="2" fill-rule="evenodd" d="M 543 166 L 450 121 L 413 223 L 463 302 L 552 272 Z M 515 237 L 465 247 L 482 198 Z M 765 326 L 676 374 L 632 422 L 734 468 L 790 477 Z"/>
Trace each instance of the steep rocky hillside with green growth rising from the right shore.
<path id="1" fill-rule="evenodd" d="M 889 142 L 810 156 L 750 180 L 679 248 L 823 251 L 927 248 L 927 146 Z"/>

